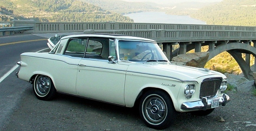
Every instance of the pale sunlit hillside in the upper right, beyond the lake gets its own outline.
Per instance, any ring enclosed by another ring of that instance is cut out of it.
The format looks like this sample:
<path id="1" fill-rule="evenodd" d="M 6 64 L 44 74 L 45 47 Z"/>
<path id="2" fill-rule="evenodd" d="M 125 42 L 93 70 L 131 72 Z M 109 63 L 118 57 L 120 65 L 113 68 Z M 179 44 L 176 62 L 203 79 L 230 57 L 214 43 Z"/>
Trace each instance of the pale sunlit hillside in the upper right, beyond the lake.
<path id="1" fill-rule="evenodd" d="M 190 16 L 207 24 L 256 26 L 256 0 L 223 0 Z"/>

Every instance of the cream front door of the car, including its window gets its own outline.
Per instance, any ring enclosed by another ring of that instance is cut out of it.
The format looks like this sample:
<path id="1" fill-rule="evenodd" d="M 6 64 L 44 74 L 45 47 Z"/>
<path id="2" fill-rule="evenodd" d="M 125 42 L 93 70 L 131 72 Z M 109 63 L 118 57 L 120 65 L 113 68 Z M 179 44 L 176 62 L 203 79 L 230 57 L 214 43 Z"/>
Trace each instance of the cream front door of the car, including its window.
<path id="1" fill-rule="evenodd" d="M 128 66 L 108 62 L 116 56 L 114 41 L 89 38 L 85 58 L 79 62 L 76 91 L 80 96 L 124 105 L 125 74 Z"/>

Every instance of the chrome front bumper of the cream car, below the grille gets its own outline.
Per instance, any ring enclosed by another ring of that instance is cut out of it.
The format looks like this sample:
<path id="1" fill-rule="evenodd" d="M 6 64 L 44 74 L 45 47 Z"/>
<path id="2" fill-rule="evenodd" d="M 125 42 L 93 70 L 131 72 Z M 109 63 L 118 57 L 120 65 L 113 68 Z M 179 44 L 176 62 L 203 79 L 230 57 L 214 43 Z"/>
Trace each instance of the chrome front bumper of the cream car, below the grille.
<path id="1" fill-rule="evenodd" d="M 230 101 L 230 98 L 227 94 L 223 94 L 221 97 L 216 97 L 214 99 L 219 98 L 219 105 L 226 106 L 227 102 Z M 194 102 L 184 102 L 181 104 L 181 109 L 183 110 L 207 110 L 212 107 L 212 99 L 207 99 L 207 97 L 203 97 L 201 101 Z"/>

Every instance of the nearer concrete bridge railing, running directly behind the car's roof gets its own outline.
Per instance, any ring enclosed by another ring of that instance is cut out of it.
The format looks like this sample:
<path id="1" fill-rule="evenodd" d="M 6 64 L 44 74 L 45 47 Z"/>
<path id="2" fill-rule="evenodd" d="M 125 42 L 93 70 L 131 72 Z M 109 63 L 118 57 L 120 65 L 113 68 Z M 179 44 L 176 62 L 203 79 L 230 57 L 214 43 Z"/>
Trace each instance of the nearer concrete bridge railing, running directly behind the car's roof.
<path id="1" fill-rule="evenodd" d="M 256 40 L 256 31 L 225 30 L 85 30 L 85 33 L 112 33 L 151 38 L 158 43 Z"/>

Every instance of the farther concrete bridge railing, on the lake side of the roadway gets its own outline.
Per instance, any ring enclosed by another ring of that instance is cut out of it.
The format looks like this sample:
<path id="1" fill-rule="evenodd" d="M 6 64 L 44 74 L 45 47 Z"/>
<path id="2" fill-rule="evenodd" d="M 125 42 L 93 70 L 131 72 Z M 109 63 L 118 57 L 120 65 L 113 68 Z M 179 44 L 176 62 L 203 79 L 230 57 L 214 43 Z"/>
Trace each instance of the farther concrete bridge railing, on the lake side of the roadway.
<path id="1" fill-rule="evenodd" d="M 34 33 L 74 32 L 92 30 L 228 30 L 256 31 L 256 27 L 200 24 L 158 24 L 158 23 L 118 23 L 118 22 L 34 22 L 15 20 L 14 27 L 33 26 Z"/>

